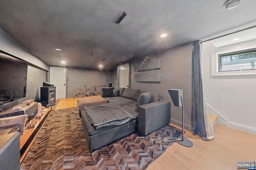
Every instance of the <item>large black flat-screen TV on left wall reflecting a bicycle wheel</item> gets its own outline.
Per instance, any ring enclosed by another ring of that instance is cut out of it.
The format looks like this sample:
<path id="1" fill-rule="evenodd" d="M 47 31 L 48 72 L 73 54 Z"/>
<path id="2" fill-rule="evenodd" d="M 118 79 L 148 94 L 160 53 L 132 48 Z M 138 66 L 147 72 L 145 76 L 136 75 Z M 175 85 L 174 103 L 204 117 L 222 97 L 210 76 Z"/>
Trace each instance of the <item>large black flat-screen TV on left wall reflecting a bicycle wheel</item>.
<path id="1" fill-rule="evenodd" d="M 28 63 L 0 51 L 0 106 L 26 97 Z"/>

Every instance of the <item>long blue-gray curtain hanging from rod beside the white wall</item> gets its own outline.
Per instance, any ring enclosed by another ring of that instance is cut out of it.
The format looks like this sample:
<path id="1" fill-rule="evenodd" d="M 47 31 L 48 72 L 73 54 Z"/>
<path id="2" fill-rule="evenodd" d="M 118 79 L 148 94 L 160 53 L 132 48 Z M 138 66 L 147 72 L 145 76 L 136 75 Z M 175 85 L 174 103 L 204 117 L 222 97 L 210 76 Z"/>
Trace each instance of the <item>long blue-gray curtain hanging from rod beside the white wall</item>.
<path id="1" fill-rule="evenodd" d="M 204 99 L 200 66 L 200 41 L 192 42 L 192 108 L 191 127 L 193 135 L 207 141 L 204 122 Z"/>

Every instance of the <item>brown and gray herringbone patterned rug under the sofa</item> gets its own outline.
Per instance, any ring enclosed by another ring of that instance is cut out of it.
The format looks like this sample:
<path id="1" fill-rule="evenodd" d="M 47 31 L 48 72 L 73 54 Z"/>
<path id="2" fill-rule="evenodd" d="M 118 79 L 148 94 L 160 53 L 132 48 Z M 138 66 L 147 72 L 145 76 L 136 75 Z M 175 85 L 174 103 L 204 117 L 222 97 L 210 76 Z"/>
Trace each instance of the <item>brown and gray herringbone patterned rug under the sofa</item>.
<path id="1" fill-rule="evenodd" d="M 146 169 L 181 131 L 166 125 L 150 135 L 133 133 L 90 153 L 76 107 L 52 111 L 20 168 L 30 170 Z"/>

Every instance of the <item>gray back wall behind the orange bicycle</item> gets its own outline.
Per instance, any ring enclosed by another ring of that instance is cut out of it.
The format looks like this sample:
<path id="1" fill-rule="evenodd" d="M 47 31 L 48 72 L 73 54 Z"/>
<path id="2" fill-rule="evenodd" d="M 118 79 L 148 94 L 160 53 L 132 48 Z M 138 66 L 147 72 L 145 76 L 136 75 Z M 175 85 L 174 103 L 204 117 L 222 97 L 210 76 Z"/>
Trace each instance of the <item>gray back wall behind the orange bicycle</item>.
<path id="1" fill-rule="evenodd" d="M 107 75 L 107 83 L 112 82 L 112 72 L 105 70 L 90 70 L 90 69 L 82 69 L 82 68 L 68 68 L 67 71 L 67 89 L 68 89 L 68 97 L 72 96 L 72 91 L 74 88 L 80 87 L 85 88 L 84 84 L 87 88 L 91 88 L 94 85 L 99 88 L 108 87 L 107 86 L 99 86 L 100 75 Z M 98 92 L 98 89 L 97 89 Z M 100 91 L 101 92 L 101 91 Z M 100 94 L 100 93 L 98 93 Z"/>

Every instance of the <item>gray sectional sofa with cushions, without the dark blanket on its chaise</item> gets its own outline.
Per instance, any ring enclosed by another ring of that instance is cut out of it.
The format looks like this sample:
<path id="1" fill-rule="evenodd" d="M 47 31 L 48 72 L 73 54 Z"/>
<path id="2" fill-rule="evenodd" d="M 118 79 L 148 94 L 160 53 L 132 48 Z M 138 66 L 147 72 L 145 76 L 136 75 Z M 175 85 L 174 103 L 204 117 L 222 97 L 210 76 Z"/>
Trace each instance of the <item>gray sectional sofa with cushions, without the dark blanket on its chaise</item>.
<path id="1" fill-rule="evenodd" d="M 111 125 L 95 129 L 86 115 L 84 107 L 81 111 L 82 126 L 90 152 L 112 143 L 122 137 L 140 131 L 148 135 L 170 123 L 170 102 L 160 100 L 160 94 L 142 92 L 139 89 L 102 88 L 102 98 L 128 110 L 134 119 L 121 125 Z M 105 104 L 108 105 L 108 104 Z M 104 105 L 100 105 L 104 106 Z"/>

